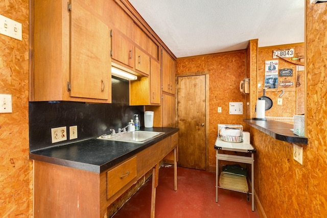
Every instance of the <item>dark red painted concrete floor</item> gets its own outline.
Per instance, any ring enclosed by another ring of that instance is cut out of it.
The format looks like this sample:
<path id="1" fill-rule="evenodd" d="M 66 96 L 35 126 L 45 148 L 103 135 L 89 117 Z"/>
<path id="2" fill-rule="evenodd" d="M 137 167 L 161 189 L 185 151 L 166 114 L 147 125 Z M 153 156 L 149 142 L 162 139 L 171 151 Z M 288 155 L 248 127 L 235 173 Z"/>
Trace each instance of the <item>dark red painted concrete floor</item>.
<path id="1" fill-rule="evenodd" d="M 112 217 L 150 217 L 151 178 Z M 174 191 L 174 168 L 164 165 L 159 169 L 159 184 L 156 188 L 155 217 L 253 217 L 251 197 L 246 193 L 218 190 L 216 203 L 215 173 L 190 168 L 177 168 L 177 191 Z"/>

